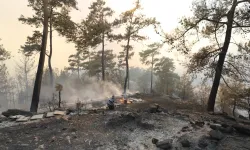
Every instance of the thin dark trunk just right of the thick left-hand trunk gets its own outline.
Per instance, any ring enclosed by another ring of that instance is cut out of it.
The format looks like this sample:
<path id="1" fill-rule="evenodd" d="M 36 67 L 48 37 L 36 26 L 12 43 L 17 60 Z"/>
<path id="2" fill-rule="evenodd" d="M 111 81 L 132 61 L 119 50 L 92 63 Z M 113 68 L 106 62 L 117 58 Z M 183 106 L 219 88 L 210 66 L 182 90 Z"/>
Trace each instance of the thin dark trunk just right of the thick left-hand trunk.
<path id="1" fill-rule="evenodd" d="M 53 36 L 53 29 L 52 29 L 52 24 L 53 24 L 53 9 L 51 8 L 50 10 L 50 53 L 49 53 L 49 58 L 48 58 L 48 66 L 49 66 L 49 74 L 50 74 L 50 86 L 53 89 L 54 88 L 54 77 L 53 77 L 53 69 L 51 65 L 51 59 L 52 59 L 52 52 L 53 52 L 53 45 L 52 45 L 52 36 Z"/>

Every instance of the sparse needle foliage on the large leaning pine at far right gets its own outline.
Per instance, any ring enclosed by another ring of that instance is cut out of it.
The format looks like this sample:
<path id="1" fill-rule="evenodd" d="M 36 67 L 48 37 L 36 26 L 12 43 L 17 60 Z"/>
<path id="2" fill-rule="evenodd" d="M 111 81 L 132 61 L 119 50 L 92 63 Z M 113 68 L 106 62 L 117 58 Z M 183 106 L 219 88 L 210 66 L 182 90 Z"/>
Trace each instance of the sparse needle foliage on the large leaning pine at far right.
<path id="1" fill-rule="evenodd" d="M 235 2 L 235 3 L 233 3 Z M 223 36 L 225 35 L 228 21 L 228 12 L 235 7 L 233 16 L 232 36 L 240 35 L 244 37 L 249 33 L 250 22 L 248 1 L 224 1 L 224 0 L 197 0 L 194 1 L 191 17 L 183 17 L 180 26 L 174 33 L 165 34 L 166 42 L 184 54 L 190 54 L 193 46 L 203 39 L 208 40 L 198 52 L 190 55 L 187 64 L 189 72 L 204 72 L 206 76 L 212 77 L 217 64 L 217 58 L 223 46 Z M 233 43 L 231 43 L 233 44 Z M 230 44 L 230 45 L 231 45 Z M 239 44 L 239 43 L 234 43 Z"/>

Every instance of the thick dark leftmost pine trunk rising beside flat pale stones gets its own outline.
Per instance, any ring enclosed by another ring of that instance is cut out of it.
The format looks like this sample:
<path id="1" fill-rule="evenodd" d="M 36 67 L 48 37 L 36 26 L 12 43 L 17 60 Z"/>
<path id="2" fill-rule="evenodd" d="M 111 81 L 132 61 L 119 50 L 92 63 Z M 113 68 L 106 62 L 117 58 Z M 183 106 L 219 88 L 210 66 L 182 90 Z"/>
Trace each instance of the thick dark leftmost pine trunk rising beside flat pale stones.
<path id="1" fill-rule="evenodd" d="M 47 46 L 47 38 L 48 38 L 48 0 L 43 0 L 43 5 L 44 5 L 43 37 L 42 37 L 42 43 L 41 43 L 39 64 L 38 64 L 37 73 L 36 73 L 36 80 L 35 80 L 35 85 L 34 85 L 34 90 L 33 90 L 32 102 L 30 106 L 31 112 L 37 112 L 37 109 L 38 109 L 44 61 L 45 61 L 45 53 L 46 53 L 46 46 Z"/>

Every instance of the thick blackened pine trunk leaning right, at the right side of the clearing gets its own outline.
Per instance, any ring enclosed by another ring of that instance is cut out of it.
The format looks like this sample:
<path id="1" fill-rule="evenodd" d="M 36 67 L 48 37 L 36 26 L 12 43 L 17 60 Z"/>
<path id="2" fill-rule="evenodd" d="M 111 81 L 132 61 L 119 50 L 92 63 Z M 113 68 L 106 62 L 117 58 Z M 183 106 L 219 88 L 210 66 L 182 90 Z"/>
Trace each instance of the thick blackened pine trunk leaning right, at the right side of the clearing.
<path id="1" fill-rule="evenodd" d="M 215 70 L 215 77 L 214 77 L 214 81 L 213 81 L 213 86 L 212 86 L 212 89 L 211 89 L 211 92 L 209 95 L 209 99 L 208 99 L 208 104 L 207 104 L 207 111 L 209 111 L 209 112 L 214 111 L 216 95 L 217 95 L 219 84 L 220 84 L 221 72 L 223 69 L 223 64 L 224 64 L 226 54 L 228 51 L 228 47 L 230 44 L 230 40 L 231 40 L 232 25 L 233 25 L 234 11 L 235 11 L 236 5 L 237 5 L 237 0 L 234 0 L 232 8 L 230 9 L 230 11 L 227 14 L 228 22 L 227 22 L 226 36 L 225 36 L 225 40 L 224 40 L 224 45 L 223 45 L 222 50 L 219 54 L 219 60 L 218 60 L 216 70 Z"/>

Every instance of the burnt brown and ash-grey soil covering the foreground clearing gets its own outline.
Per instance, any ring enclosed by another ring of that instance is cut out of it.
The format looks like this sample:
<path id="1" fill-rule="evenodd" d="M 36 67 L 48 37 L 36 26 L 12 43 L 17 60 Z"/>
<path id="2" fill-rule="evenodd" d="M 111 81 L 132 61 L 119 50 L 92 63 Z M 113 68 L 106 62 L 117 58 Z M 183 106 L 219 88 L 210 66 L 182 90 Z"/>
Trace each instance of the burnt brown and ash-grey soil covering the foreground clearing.
<path id="1" fill-rule="evenodd" d="M 50 118 L 0 129 L 1 150 L 154 150 L 152 139 L 171 139 L 173 149 L 250 149 L 250 137 L 233 131 L 225 138 L 209 137 L 210 124 L 235 124 L 221 115 L 209 115 L 198 104 L 160 97 L 141 97 L 143 103 L 65 118 Z M 154 103 L 160 113 L 149 113 Z M 187 142 L 188 140 L 188 142 Z M 183 147 L 181 143 L 189 143 Z"/>

